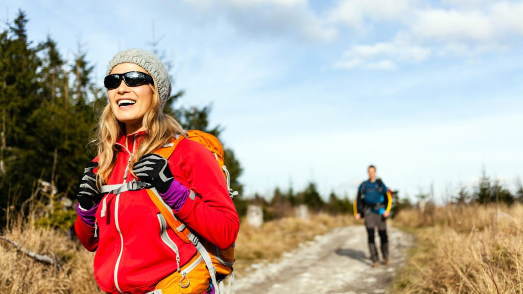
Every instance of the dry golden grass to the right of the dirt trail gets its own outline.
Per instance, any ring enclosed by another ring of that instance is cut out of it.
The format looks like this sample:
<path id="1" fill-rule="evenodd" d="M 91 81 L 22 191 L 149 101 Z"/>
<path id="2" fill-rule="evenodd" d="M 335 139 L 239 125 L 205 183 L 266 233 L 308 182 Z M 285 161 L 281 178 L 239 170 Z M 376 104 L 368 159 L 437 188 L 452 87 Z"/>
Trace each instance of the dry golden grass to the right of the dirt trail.
<path id="1" fill-rule="evenodd" d="M 418 246 L 391 292 L 522 293 L 523 206 L 402 211 Z"/>

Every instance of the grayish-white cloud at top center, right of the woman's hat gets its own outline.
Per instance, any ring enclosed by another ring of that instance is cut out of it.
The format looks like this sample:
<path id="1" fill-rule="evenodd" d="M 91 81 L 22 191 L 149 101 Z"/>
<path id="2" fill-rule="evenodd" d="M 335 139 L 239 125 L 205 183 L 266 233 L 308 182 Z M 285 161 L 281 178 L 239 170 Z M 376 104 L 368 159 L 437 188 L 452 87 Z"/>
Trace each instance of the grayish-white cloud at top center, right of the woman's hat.
<path id="1" fill-rule="evenodd" d="M 307 0 L 186 0 L 216 17 L 222 15 L 234 29 L 249 36 L 294 36 L 333 40 L 337 31 L 316 16 Z"/>

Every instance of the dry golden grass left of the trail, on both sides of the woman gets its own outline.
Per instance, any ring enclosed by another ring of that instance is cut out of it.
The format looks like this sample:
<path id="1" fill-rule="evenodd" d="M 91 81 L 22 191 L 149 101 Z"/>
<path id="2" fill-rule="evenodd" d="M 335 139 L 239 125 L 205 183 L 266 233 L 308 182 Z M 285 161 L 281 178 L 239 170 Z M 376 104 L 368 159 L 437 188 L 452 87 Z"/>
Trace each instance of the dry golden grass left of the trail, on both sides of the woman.
<path id="1" fill-rule="evenodd" d="M 280 257 L 316 234 L 353 222 L 348 216 L 319 214 L 309 221 L 271 221 L 259 229 L 242 223 L 236 242 L 236 275 L 241 276 L 245 268 L 261 259 Z M 33 221 L 19 218 L 2 235 L 35 253 L 59 259 L 63 266 L 58 269 L 36 262 L 0 241 L 0 293 L 101 293 L 93 276 L 94 253 L 71 241 L 63 231 L 36 228 Z"/>

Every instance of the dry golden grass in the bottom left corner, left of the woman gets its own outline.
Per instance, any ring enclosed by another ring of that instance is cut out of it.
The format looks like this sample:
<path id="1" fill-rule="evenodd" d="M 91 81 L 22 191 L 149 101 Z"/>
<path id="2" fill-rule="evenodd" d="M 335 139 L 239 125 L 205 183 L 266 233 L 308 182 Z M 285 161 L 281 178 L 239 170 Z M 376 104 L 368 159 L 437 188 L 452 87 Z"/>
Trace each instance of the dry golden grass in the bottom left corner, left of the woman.
<path id="1" fill-rule="evenodd" d="M 0 293 L 101 293 L 93 278 L 94 254 L 65 233 L 35 228 L 21 218 L 3 236 L 38 253 L 59 259 L 62 268 L 42 264 L 0 241 Z"/>

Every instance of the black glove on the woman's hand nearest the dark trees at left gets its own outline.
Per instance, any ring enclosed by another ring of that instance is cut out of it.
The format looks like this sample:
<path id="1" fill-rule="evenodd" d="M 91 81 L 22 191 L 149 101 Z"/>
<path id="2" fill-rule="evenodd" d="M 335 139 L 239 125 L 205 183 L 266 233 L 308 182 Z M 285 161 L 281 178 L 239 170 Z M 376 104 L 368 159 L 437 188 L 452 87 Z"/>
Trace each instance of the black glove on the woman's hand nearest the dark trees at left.
<path id="1" fill-rule="evenodd" d="M 93 169 L 98 166 L 97 162 L 89 162 L 84 168 L 84 174 L 80 177 L 78 186 L 74 190 L 76 198 L 83 209 L 91 209 L 96 203 L 100 203 L 100 189 L 96 185 L 96 175 Z"/>

